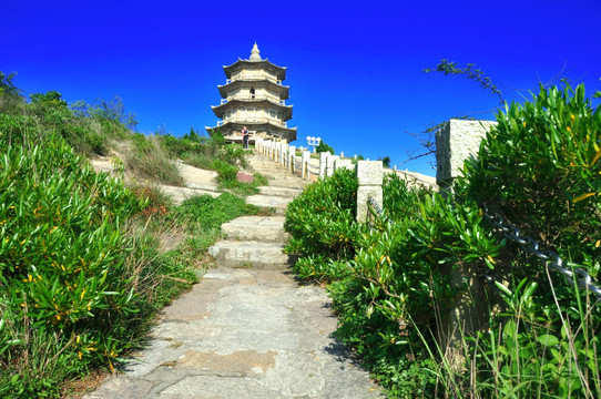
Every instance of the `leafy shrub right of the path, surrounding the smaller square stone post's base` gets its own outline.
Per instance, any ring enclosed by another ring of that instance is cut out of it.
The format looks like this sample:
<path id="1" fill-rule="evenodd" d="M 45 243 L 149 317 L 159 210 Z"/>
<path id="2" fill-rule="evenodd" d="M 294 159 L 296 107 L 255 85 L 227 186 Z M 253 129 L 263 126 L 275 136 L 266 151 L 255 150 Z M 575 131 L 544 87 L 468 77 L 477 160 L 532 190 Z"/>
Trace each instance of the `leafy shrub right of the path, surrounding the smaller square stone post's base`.
<path id="1" fill-rule="evenodd" d="M 499 244 L 476 207 L 456 208 L 439 194 L 409 190 L 394 174 L 383 187 L 386 219 L 368 231 L 355 223 L 356 190 L 352 171 L 307 187 L 288 205 L 287 250 L 302 255 L 295 267 L 302 277 L 332 283 L 336 336 L 390 397 L 431 395 L 428 346 L 436 342 L 439 315 L 461 294 L 448 270 L 490 263 Z"/>

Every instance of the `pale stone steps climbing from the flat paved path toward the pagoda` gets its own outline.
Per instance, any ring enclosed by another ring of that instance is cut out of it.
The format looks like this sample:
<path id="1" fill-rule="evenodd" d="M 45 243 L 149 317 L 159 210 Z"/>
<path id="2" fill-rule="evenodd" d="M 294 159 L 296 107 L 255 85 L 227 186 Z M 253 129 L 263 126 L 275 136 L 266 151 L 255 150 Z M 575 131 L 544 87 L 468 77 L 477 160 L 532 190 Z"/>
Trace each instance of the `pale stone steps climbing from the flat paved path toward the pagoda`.
<path id="1" fill-rule="evenodd" d="M 284 214 L 288 203 L 310 184 L 273 161 L 253 156 L 249 168 L 264 175 L 268 186 L 248 196 L 253 205 L 275 208 L 275 216 L 243 216 L 222 225 L 225 239 L 213 245 L 208 253 L 223 267 L 252 267 L 284 270 L 294 259 L 283 253 L 288 239 L 284 232 Z"/>

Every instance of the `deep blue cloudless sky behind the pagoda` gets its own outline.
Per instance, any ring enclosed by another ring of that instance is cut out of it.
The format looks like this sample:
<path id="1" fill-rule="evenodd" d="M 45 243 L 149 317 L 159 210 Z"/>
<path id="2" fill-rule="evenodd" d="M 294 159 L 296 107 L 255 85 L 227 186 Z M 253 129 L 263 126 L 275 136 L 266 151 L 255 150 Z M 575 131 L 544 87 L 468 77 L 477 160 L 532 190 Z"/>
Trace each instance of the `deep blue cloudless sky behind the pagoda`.
<path id="1" fill-rule="evenodd" d="M 476 63 L 509 101 L 558 75 L 601 90 L 601 1 L 7 1 L 0 71 L 29 93 L 69 102 L 120 95 L 137 130 L 183 135 L 217 117 L 223 65 L 287 66 L 288 126 L 336 152 L 390 156 L 451 116 L 492 119 L 499 101 L 461 76 L 424 73 Z M 528 94 L 526 94 L 528 96 Z M 400 167 L 429 175 L 427 158 Z"/>

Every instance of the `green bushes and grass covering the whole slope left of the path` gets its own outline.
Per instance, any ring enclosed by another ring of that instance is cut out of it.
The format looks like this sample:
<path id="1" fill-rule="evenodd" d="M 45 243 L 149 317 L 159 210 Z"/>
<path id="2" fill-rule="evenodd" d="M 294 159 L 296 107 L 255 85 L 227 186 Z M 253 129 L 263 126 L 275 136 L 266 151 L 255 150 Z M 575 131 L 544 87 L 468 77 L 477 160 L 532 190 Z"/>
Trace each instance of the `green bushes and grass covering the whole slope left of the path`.
<path id="1" fill-rule="evenodd" d="M 6 79 L 0 73 L 0 396 L 58 397 L 68 379 L 119 367 L 156 310 L 197 280 L 215 224 L 258 211 L 230 194 L 174 207 L 152 185 L 129 188 L 94 173 L 73 147 L 106 154 L 125 140 L 140 161 L 128 165 L 147 176 L 162 171 L 144 157 L 171 162 L 160 139 L 133 135 L 110 114 L 78 114 L 59 93 L 27 102 Z"/>

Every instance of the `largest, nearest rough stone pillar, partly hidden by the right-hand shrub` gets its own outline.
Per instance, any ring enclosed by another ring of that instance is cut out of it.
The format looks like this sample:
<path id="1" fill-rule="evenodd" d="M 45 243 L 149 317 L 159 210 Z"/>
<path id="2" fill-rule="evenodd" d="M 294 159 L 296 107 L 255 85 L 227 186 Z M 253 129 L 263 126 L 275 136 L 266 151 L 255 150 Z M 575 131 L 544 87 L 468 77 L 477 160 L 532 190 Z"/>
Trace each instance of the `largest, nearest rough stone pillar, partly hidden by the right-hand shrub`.
<path id="1" fill-rule="evenodd" d="M 436 183 L 442 190 L 452 186 L 461 174 L 464 161 L 476 156 L 480 142 L 493 121 L 464 121 L 451 119 L 436 132 Z"/>

